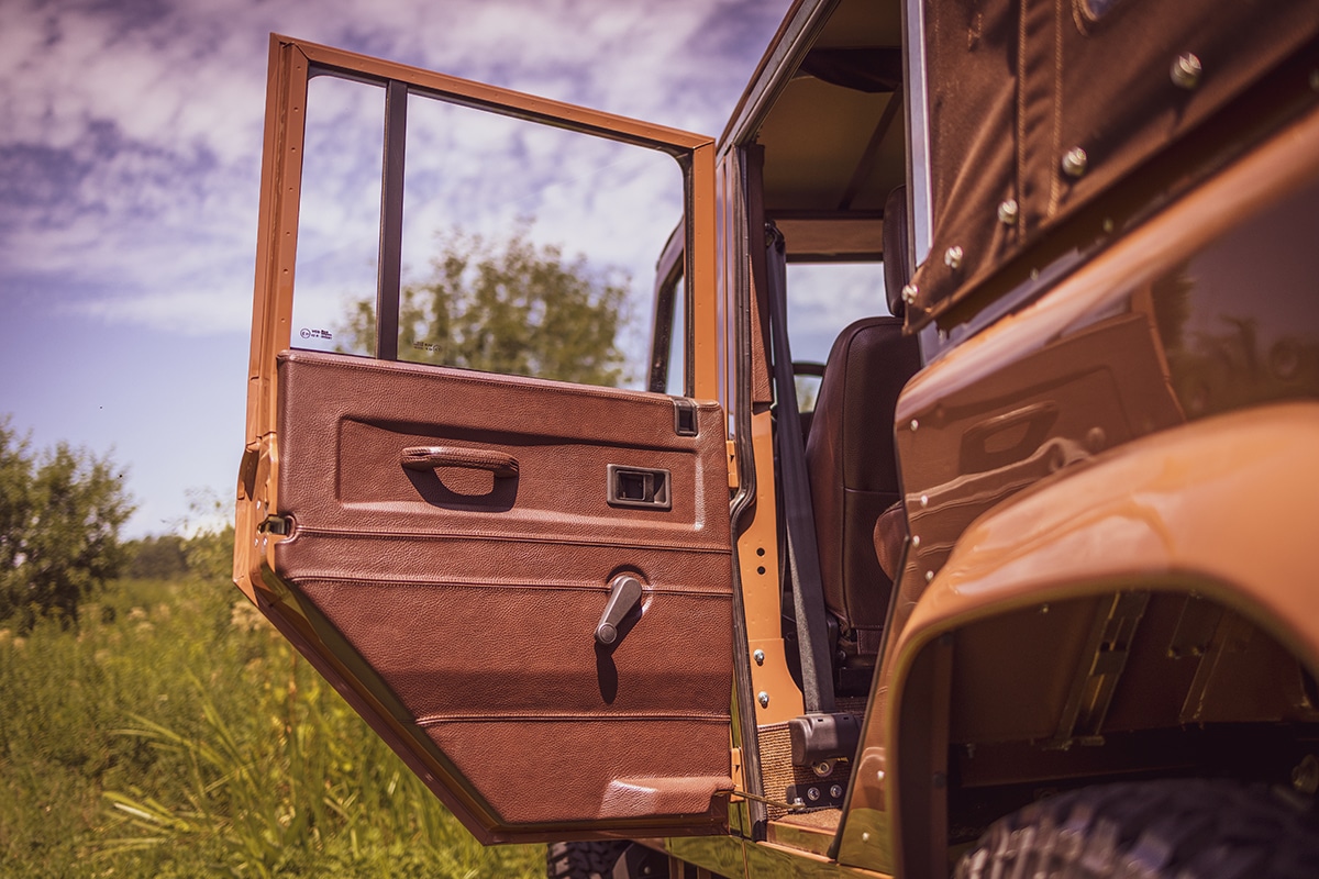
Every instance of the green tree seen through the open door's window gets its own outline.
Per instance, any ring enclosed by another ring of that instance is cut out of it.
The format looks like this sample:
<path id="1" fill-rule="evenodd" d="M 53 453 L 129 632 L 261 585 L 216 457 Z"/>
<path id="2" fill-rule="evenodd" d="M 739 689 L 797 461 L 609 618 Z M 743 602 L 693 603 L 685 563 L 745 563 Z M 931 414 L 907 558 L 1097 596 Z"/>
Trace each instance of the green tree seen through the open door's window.
<path id="1" fill-rule="evenodd" d="M 398 356 L 617 386 L 625 306 L 625 277 L 594 271 L 584 257 L 568 261 L 557 246 L 538 246 L 525 228 L 503 245 L 451 235 L 441 239 L 430 278 L 404 287 Z M 375 300 L 356 302 L 339 333 L 343 351 L 375 351 Z"/>

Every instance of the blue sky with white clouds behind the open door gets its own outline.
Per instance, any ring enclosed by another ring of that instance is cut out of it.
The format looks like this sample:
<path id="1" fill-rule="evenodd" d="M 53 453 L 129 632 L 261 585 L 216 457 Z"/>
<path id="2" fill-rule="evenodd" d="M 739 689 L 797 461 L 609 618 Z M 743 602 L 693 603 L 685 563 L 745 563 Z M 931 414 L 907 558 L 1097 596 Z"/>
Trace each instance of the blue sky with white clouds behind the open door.
<path id="1" fill-rule="evenodd" d="M 244 436 L 270 32 L 718 136 L 789 5 L 0 0 L 0 416 L 37 449 L 63 440 L 109 455 L 137 506 L 123 536 L 195 522 L 198 497 L 230 502 Z M 322 203 L 299 233 L 307 302 L 317 289 L 330 306 L 351 293 L 344 273 L 360 273 L 365 257 L 339 245 L 376 221 L 373 198 L 379 211 L 379 196 L 343 188 L 359 174 L 352 150 L 372 149 L 369 113 L 356 113 L 355 100 L 326 101 L 347 115 L 330 123 L 356 119 L 364 133 L 340 157 L 350 167 L 340 188 L 310 196 Z M 447 130 L 439 116 L 409 113 L 419 142 Z M 648 198 L 620 182 L 633 178 L 613 158 L 591 161 L 584 173 L 601 175 L 620 204 Z M 421 186 L 426 171 L 409 173 Z M 508 192 L 483 192 L 503 199 L 500 221 L 528 213 Z M 576 208 L 555 224 L 539 213 L 553 200 L 533 207 L 533 240 L 578 228 Z M 654 228 L 671 228 L 675 217 L 654 213 Z M 412 228 L 405 264 L 418 270 L 418 241 L 443 232 L 446 216 L 418 213 Z M 617 232 L 620 242 L 636 237 L 630 225 Z M 641 273 L 657 252 L 637 246 L 605 257 Z"/>

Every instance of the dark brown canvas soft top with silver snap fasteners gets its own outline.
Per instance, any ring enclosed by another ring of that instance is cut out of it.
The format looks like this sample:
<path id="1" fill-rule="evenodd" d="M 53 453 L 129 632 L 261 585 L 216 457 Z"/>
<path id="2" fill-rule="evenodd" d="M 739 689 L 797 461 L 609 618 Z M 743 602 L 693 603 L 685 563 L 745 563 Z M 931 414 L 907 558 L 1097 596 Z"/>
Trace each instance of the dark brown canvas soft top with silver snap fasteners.
<path id="1" fill-rule="evenodd" d="M 1319 33 L 1314 0 L 930 0 L 923 14 L 933 245 L 910 327 Z"/>

